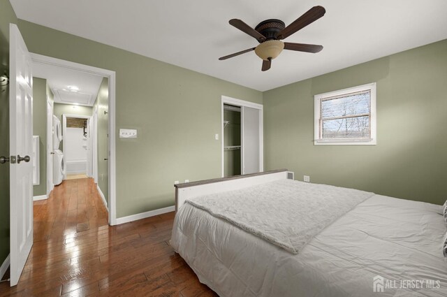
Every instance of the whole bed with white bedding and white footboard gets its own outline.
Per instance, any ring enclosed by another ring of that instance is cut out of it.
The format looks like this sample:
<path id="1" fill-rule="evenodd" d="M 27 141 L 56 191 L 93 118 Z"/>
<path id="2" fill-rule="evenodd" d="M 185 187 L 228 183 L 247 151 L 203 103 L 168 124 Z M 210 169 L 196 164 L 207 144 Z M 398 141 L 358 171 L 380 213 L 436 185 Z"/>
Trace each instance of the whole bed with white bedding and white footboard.
<path id="1" fill-rule="evenodd" d="M 221 297 L 447 296 L 440 205 L 287 177 L 176 185 L 170 243 L 200 282 Z M 256 201 L 261 193 L 271 205 Z"/>

